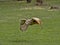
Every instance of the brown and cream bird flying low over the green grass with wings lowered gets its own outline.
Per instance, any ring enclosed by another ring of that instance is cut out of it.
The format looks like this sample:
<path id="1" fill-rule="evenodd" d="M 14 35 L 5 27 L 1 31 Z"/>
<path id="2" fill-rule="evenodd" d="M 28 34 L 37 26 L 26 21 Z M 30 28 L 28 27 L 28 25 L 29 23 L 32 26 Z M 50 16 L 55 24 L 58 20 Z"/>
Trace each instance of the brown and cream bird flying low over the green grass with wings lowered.
<path id="1" fill-rule="evenodd" d="M 41 20 L 39 18 L 33 17 L 31 19 L 22 19 L 20 22 L 20 30 L 26 31 L 28 26 L 34 24 L 41 24 Z"/>

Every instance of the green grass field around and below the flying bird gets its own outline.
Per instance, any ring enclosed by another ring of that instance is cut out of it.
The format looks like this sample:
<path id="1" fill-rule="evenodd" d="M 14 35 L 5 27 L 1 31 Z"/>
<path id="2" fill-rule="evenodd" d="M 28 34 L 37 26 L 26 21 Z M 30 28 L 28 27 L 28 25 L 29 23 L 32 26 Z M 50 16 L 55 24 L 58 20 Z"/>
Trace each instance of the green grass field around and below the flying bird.
<path id="1" fill-rule="evenodd" d="M 28 5 L 0 2 L 0 45 L 60 45 L 60 9 L 49 11 L 48 7 Z M 20 20 L 32 17 L 42 20 L 42 29 L 36 24 L 20 31 Z"/>

